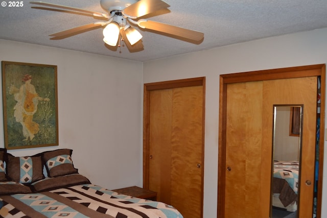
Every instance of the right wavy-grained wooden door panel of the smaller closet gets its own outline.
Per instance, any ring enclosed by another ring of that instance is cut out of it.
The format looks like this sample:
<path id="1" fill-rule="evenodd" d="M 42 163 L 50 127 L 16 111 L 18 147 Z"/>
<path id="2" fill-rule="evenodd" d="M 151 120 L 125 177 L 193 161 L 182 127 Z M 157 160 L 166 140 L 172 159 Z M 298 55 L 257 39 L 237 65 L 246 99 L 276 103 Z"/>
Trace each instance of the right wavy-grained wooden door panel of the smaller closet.
<path id="1" fill-rule="evenodd" d="M 173 89 L 171 204 L 201 217 L 203 87 Z M 200 164 L 200 165 L 198 165 Z"/>

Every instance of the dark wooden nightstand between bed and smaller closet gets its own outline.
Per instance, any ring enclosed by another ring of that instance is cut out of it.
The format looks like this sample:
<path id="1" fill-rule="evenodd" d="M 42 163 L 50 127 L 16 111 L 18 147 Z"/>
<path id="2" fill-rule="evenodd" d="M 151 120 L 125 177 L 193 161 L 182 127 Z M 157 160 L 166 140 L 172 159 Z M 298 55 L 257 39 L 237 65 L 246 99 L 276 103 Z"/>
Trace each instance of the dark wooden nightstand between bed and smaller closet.
<path id="1" fill-rule="evenodd" d="M 148 189 L 140 188 L 137 186 L 131 186 L 126 188 L 114 189 L 112 191 L 121 193 L 123 195 L 132 196 L 136 198 L 143 198 L 151 201 L 157 200 L 157 192 Z"/>

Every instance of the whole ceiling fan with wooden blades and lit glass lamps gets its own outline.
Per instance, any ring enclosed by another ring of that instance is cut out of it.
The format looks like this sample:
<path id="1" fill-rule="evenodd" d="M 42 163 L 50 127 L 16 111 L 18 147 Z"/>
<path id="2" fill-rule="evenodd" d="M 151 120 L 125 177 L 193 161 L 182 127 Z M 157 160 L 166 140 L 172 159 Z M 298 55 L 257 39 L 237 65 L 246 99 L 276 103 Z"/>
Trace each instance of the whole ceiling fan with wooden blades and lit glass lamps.
<path id="1" fill-rule="evenodd" d="M 142 17 L 145 15 L 151 15 L 154 12 L 170 7 L 170 5 L 161 0 L 101 0 L 101 7 L 107 11 L 106 13 L 45 2 L 30 3 L 45 6 L 32 7 L 36 9 L 77 13 L 80 15 L 93 16 L 94 18 L 101 19 L 101 21 L 51 34 L 51 39 L 63 39 L 82 32 L 105 27 L 103 29 L 103 41 L 106 44 L 110 46 L 120 46 L 119 39 L 121 39 L 125 42 L 130 52 L 137 52 L 143 50 L 143 43 L 141 40 L 142 35 L 135 28 L 133 28 L 133 26 L 138 26 L 139 28 L 150 30 L 154 33 L 163 34 L 196 44 L 201 42 L 204 37 L 204 34 L 198 31 L 184 29 L 148 19 L 142 19 Z"/>

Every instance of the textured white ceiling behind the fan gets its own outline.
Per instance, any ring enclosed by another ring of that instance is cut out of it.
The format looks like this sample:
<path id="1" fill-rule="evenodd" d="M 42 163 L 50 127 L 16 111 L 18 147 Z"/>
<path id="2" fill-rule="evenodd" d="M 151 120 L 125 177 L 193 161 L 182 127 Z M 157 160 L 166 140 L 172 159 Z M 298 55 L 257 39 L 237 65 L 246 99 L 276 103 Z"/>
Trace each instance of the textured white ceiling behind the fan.
<path id="1" fill-rule="evenodd" d="M 44 0 L 43 0 L 44 1 Z M 158 58 L 212 49 L 270 36 L 309 31 L 327 27 L 326 0 L 166 0 L 169 13 L 160 11 L 149 20 L 204 33 L 200 44 L 193 44 L 152 32 L 139 30 L 144 50 L 130 53 L 126 47 L 116 50 L 103 42 L 102 28 L 61 40 L 49 35 L 98 21 L 58 11 L 33 9 L 28 1 L 22 7 L 0 7 L 0 38 L 60 47 L 111 57 L 148 61 Z M 104 12 L 100 0 L 45 0 L 86 10 Z M 1 49 L 1 48 L 0 48 Z"/>

